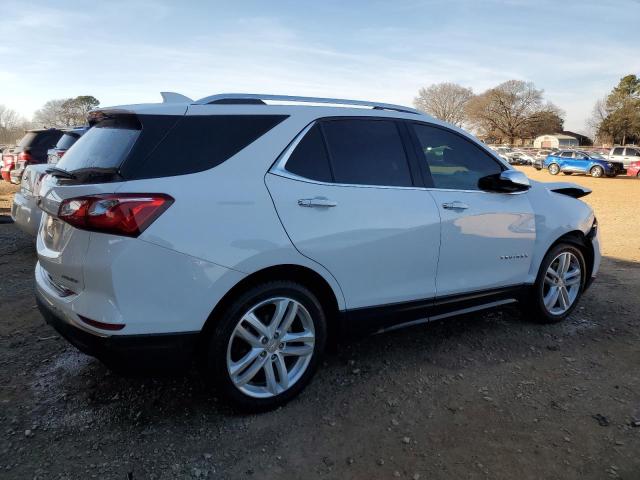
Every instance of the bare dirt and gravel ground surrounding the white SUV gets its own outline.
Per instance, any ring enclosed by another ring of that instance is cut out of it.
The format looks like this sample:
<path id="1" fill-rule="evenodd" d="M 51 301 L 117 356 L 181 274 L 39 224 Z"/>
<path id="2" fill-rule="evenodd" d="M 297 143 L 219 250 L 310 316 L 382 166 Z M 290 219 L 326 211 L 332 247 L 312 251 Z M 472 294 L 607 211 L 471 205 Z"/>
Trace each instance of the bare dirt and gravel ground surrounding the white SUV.
<path id="1" fill-rule="evenodd" d="M 567 322 L 505 309 L 369 337 L 259 416 L 196 373 L 77 353 L 35 308 L 32 240 L 0 224 L 0 477 L 640 478 L 640 181 L 557 180 L 594 190 L 606 256 Z"/>

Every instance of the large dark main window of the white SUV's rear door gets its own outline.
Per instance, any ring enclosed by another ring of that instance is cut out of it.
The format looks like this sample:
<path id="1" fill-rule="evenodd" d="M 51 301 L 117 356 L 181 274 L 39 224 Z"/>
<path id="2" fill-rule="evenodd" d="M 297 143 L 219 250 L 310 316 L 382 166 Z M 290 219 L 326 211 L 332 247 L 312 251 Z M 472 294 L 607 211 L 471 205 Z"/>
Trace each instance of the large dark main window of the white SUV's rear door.
<path id="1" fill-rule="evenodd" d="M 322 122 L 336 183 L 413 185 L 402 138 L 389 120 Z"/>

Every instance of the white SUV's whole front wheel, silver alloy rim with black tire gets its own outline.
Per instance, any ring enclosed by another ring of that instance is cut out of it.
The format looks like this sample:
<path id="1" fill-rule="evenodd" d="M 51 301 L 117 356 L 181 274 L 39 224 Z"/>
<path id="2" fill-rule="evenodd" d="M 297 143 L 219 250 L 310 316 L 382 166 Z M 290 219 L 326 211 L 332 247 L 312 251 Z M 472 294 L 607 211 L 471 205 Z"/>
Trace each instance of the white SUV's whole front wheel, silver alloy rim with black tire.
<path id="1" fill-rule="evenodd" d="M 541 323 L 564 320 L 575 308 L 586 279 L 584 256 L 570 244 L 559 244 L 545 256 L 524 312 Z"/>

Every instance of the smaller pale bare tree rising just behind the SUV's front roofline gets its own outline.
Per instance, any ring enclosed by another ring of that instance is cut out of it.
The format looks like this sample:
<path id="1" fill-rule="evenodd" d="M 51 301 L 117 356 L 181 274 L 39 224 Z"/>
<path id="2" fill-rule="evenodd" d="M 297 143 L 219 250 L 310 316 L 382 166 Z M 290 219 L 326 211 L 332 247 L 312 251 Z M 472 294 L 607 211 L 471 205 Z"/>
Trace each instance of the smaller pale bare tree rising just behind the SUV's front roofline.
<path id="1" fill-rule="evenodd" d="M 466 120 L 466 106 L 473 97 L 473 91 L 456 83 L 436 83 L 421 88 L 413 104 L 418 110 L 429 115 L 462 126 Z"/>

